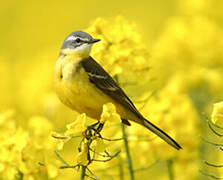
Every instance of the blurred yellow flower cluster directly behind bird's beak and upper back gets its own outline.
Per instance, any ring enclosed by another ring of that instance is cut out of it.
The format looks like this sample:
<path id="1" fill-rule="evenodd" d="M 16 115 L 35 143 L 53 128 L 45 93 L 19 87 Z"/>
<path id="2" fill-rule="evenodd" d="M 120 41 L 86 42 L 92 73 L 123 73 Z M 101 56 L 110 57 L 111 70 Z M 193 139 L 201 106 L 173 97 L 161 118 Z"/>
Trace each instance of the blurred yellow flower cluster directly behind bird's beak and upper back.
<path id="1" fill-rule="evenodd" d="M 148 67 L 148 51 L 144 47 L 140 33 L 137 32 L 135 24 L 124 17 L 118 16 L 110 20 L 98 18 L 87 32 L 102 39 L 97 48 L 93 49 L 92 55 L 112 76 L 120 75 L 129 80 L 129 74 L 136 78 L 136 69 Z"/>

